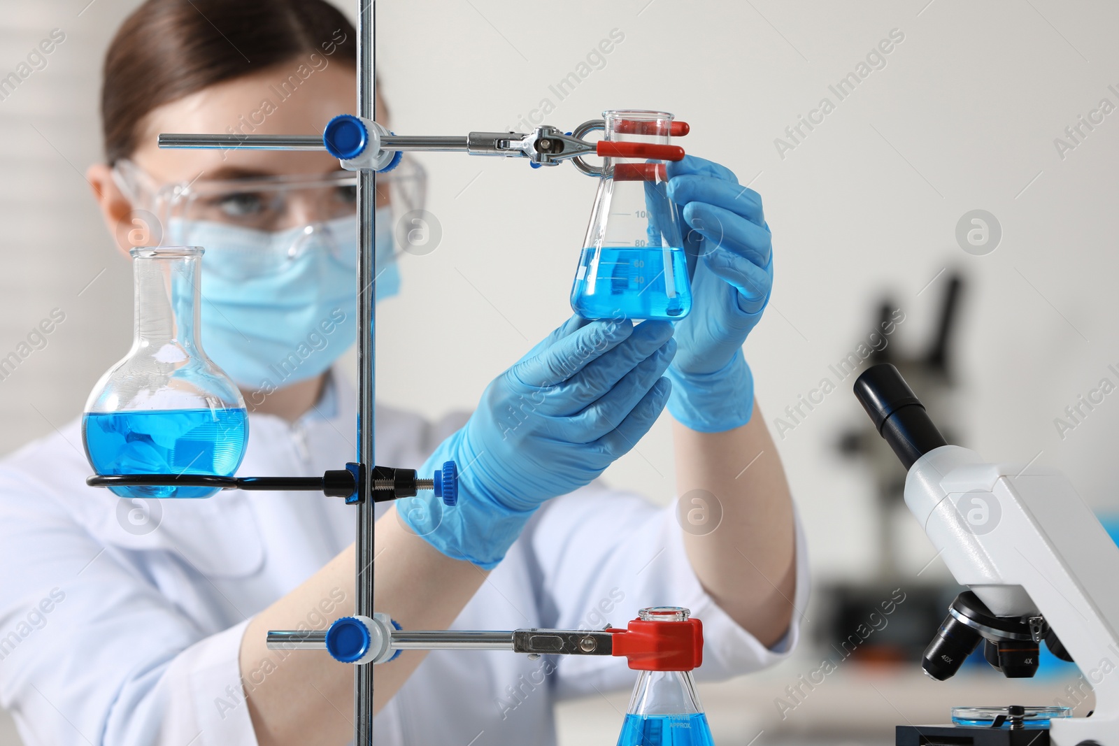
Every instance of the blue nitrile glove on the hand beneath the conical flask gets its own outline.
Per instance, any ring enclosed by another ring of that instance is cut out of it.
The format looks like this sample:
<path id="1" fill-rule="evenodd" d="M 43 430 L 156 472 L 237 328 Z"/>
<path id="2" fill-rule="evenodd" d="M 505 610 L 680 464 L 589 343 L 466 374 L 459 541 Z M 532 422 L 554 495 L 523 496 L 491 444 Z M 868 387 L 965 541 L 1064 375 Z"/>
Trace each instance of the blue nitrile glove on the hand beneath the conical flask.
<path id="1" fill-rule="evenodd" d="M 673 327 L 572 317 L 482 394 L 466 425 L 422 468 L 459 466 L 459 503 L 396 502 L 412 530 L 453 559 L 490 569 L 546 500 L 595 479 L 656 422 L 671 389 Z"/>

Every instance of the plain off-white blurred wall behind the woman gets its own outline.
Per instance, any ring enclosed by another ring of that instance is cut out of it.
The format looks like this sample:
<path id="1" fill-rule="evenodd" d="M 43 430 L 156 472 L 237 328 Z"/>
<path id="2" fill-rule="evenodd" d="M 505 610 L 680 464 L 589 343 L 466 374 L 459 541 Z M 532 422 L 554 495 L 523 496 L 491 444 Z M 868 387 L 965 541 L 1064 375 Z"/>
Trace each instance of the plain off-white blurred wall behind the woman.
<path id="1" fill-rule="evenodd" d="M 9 3 L 0 19 L 0 74 L 50 29 L 66 34 L 46 69 L 0 101 L 0 357 L 51 309 L 66 313 L 47 347 L 0 380 L 3 452 L 76 416 L 131 334 L 129 266 L 82 172 L 100 157 L 101 56 L 135 3 Z M 1119 368 L 1119 114 L 1063 159 L 1053 142 L 1101 98 L 1119 105 L 1108 88 L 1119 89 L 1119 7 L 568 0 L 551 19 L 533 7 L 382 0 L 394 129 L 504 129 L 544 97 L 556 104 L 547 121 L 567 129 L 604 108 L 675 112 L 692 124 L 689 152 L 727 164 L 765 199 L 777 284 L 746 352 L 769 421 L 865 338 L 882 291 L 908 314 L 892 343 L 923 343 L 944 275 L 933 278 L 955 267 L 969 280 L 958 348 L 968 444 L 993 460 L 1037 454 L 1094 506 L 1119 508 L 1119 395 L 1064 440 L 1053 423 L 1100 378 L 1119 383 L 1107 369 Z M 615 28 L 626 38 L 605 67 L 557 101 L 549 84 Z M 891 29 L 904 41 L 885 68 L 781 158 L 774 139 L 821 97 L 836 102 L 828 86 Z M 568 315 L 594 182 L 567 167 L 421 160 L 443 240 L 404 258 L 404 293 L 380 306 L 378 394 L 434 415 L 472 406 Z M 987 256 L 955 239 L 976 208 L 1003 228 Z M 861 416 L 847 381 L 779 443 L 821 577 L 854 577 L 874 561 L 869 482 L 833 453 Z M 670 456 L 662 421 L 608 479 L 666 501 Z M 912 551 L 931 557 L 922 541 Z"/>

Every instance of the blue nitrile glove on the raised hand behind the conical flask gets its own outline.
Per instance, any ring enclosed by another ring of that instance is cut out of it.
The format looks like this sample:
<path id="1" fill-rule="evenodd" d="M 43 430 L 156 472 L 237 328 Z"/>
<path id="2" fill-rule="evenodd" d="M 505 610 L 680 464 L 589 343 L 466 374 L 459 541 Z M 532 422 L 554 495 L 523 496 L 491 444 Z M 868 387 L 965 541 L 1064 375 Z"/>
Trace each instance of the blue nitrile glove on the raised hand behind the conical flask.
<path id="1" fill-rule="evenodd" d="M 750 422 L 754 380 L 742 356 L 773 286 L 770 229 L 759 193 L 726 167 L 693 155 L 668 164 L 692 276 L 692 312 L 676 322 L 668 410 L 681 424 L 720 433 Z M 690 228 L 690 230 L 689 230 Z"/>

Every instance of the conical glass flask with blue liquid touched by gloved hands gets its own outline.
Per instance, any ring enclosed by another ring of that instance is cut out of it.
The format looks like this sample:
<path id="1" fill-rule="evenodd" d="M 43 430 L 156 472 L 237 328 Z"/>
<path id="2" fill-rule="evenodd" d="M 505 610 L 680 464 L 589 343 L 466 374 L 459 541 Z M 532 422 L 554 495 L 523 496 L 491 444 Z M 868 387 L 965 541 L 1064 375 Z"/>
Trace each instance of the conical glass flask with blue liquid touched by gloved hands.
<path id="1" fill-rule="evenodd" d="M 603 112 L 605 140 L 668 144 L 673 115 Z M 606 158 L 571 306 L 585 319 L 684 318 L 692 287 L 665 161 Z"/>

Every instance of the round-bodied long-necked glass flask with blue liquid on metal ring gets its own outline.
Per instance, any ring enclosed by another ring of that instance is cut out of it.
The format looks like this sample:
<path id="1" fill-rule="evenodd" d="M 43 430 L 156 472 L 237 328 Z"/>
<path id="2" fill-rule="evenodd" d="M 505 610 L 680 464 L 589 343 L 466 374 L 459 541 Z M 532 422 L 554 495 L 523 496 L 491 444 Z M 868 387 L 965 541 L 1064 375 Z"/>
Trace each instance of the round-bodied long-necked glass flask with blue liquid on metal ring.
<path id="1" fill-rule="evenodd" d="M 198 341 L 198 246 L 133 248 L 135 336 L 82 418 L 98 474 L 232 476 L 248 440 L 241 391 Z M 122 498 L 208 498 L 216 488 L 109 488 Z"/>

